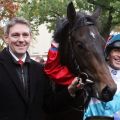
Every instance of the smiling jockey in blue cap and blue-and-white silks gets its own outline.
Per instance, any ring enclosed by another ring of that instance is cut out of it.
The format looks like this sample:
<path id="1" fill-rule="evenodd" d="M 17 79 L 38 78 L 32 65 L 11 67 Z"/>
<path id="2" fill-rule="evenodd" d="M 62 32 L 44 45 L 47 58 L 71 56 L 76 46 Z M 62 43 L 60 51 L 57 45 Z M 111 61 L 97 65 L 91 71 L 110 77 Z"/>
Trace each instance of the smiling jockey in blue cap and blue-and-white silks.
<path id="1" fill-rule="evenodd" d="M 91 116 L 108 116 L 114 117 L 114 120 L 120 120 L 120 34 L 113 36 L 107 41 L 105 58 L 111 76 L 117 84 L 117 91 L 113 100 L 109 102 L 102 102 L 96 98 L 91 98 L 85 110 L 84 119 Z"/>

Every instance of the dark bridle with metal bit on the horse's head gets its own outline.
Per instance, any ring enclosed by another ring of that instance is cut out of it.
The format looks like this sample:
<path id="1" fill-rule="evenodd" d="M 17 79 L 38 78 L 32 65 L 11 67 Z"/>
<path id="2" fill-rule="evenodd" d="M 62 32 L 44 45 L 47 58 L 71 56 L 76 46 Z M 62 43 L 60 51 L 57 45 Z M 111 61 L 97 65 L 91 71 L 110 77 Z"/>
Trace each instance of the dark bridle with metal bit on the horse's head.
<path id="1" fill-rule="evenodd" d="M 86 103 L 88 104 L 90 96 L 89 96 L 88 91 L 85 88 L 85 84 L 86 84 L 86 82 L 93 83 L 93 81 L 89 79 L 89 75 L 86 72 L 84 72 L 84 71 L 82 71 L 80 69 L 80 66 L 79 66 L 79 64 L 77 62 L 77 59 L 76 59 L 76 56 L 75 56 L 74 50 L 73 50 L 72 33 L 76 29 L 78 29 L 79 27 L 89 26 L 89 25 L 94 25 L 94 23 L 88 21 L 87 18 L 82 17 L 82 18 L 79 19 L 79 21 L 76 24 L 76 26 L 73 27 L 73 25 L 71 25 L 71 24 L 69 25 L 69 32 L 68 32 L 68 42 L 69 42 L 69 45 L 70 45 L 71 57 L 72 57 L 72 60 L 73 60 L 73 65 L 74 65 L 75 70 L 78 71 L 78 73 L 77 73 L 78 76 L 77 77 L 78 77 L 79 83 L 81 84 L 81 89 L 84 92 L 83 105 L 81 105 L 81 106 L 79 106 L 77 108 L 72 106 L 72 109 L 77 110 L 77 111 L 84 111 L 85 107 L 87 107 Z"/>

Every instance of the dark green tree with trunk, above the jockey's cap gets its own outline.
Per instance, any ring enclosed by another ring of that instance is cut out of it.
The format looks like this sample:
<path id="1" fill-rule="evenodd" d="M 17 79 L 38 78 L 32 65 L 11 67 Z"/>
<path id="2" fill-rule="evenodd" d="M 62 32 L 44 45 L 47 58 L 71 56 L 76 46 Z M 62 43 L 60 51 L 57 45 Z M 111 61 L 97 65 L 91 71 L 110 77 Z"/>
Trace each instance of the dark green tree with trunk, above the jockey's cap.
<path id="1" fill-rule="evenodd" d="M 100 6 L 102 12 L 101 34 L 107 38 L 110 31 L 120 25 L 120 1 L 119 0 L 87 0 L 90 4 Z"/>

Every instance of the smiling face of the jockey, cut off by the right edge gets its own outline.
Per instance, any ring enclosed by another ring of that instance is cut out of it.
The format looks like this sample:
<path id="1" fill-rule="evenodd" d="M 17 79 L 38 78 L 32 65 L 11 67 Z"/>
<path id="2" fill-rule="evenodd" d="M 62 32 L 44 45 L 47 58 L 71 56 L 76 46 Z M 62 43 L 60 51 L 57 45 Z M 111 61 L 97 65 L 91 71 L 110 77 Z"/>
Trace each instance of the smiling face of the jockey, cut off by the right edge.
<path id="1" fill-rule="evenodd" d="M 120 48 L 111 50 L 108 55 L 109 64 L 115 69 L 120 69 Z"/>

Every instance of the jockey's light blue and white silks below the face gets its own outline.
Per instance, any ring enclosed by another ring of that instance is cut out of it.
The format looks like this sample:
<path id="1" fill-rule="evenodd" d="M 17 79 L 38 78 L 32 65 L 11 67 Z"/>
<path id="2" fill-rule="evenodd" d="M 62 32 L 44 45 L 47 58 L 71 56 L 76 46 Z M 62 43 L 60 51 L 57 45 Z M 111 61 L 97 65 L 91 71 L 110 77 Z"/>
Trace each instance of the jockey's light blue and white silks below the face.
<path id="1" fill-rule="evenodd" d="M 102 102 L 96 98 L 91 98 L 88 108 L 84 113 L 84 120 L 90 116 L 109 116 L 114 120 L 120 120 L 120 70 L 109 67 L 112 78 L 117 84 L 117 91 L 112 101 Z"/>

